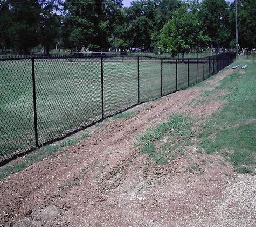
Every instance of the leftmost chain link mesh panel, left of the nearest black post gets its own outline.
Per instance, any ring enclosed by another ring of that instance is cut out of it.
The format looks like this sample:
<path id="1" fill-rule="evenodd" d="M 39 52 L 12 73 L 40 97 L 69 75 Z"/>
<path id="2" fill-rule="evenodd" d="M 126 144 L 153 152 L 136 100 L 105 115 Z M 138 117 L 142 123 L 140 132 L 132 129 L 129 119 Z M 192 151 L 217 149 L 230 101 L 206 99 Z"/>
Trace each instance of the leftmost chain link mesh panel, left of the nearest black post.
<path id="1" fill-rule="evenodd" d="M 0 162 L 34 145 L 30 59 L 0 61 Z"/>

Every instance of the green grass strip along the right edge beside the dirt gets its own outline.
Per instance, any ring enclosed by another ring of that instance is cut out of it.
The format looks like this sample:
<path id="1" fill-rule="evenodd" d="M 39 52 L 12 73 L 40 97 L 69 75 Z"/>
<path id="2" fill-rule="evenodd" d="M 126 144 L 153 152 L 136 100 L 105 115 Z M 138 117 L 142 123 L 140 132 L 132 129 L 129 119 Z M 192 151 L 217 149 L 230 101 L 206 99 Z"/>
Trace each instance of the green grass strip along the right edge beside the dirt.
<path id="1" fill-rule="evenodd" d="M 220 113 L 211 117 L 202 128 L 200 145 L 206 153 L 225 155 L 239 173 L 255 173 L 256 167 L 256 77 L 255 60 L 247 63 L 246 70 L 238 69 L 227 76 L 218 87 L 229 89 L 228 100 Z"/>

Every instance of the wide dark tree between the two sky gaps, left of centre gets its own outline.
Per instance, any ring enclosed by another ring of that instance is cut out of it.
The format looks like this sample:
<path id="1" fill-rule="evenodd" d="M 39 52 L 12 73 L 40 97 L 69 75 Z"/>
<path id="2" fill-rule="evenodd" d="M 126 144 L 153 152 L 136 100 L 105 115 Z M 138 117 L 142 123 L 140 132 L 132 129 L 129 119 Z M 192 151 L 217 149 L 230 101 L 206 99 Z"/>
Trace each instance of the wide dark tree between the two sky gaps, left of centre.
<path id="1" fill-rule="evenodd" d="M 121 0 L 66 0 L 64 11 L 63 41 L 66 48 L 75 50 L 110 47 L 123 17 Z"/>

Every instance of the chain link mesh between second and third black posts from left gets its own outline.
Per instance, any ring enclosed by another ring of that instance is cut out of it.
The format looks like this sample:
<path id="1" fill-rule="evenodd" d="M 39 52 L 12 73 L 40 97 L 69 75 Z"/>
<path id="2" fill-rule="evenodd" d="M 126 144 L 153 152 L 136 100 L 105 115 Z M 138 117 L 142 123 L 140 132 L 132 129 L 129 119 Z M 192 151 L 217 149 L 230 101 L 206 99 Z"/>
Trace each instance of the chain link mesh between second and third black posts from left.
<path id="1" fill-rule="evenodd" d="M 104 116 L 137 104 L 137 58 L 103 59 Z"/>

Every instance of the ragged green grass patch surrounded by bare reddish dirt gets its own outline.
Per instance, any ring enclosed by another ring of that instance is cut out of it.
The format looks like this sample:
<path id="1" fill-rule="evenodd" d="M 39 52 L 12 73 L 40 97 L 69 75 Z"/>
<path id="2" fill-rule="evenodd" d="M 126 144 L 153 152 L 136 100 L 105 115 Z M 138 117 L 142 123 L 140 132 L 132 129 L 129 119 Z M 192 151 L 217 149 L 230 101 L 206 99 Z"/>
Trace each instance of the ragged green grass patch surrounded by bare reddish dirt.
<path id="1" fill-rule="evenodd" d="M 182 140 L 190 137 L 191 126 L 192 123 L 187 115 L 183 113 L 171 115 L 168 122 L 159 124 L 155 129 L 149 129 L 146 134 L 143 134 L 135 146 L 141 146 L 141 152 L 148 154 L 157 164 L 167 164 L 173 154 L 170 146 L 165 145 L 169 141 L 172 144 L 181 143 Z M 158 142 L 161 142 L 161 146 Z"/>

